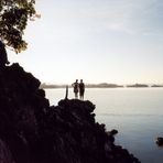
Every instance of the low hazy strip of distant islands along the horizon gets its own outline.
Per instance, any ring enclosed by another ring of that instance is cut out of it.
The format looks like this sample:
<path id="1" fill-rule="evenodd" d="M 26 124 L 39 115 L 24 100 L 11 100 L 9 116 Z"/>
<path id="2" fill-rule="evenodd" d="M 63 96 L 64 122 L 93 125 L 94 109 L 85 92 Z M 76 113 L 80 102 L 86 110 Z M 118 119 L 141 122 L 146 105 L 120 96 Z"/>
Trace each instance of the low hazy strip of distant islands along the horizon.
<path id="1" fill-rule="evenodd" d="M 56 84 L 41 84 L 40 88 L 43 89 L 55 89 L 55 88 L 65 88 L 67 85 L 56 85 Z M 72 88 L 72 85 L 68 85 Z M 163 87 L 163 85 L 146 85 L 146 84 L 133 84 L 133 85 L 118 85 L 118 84 L 108 84 L 108 83 L 100 83 L 100 84 L 86 84 L 86 88 L 148 88 L 148 87 Z"/>

